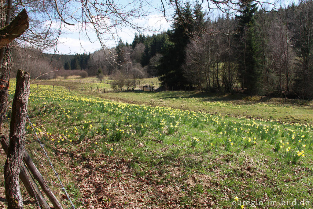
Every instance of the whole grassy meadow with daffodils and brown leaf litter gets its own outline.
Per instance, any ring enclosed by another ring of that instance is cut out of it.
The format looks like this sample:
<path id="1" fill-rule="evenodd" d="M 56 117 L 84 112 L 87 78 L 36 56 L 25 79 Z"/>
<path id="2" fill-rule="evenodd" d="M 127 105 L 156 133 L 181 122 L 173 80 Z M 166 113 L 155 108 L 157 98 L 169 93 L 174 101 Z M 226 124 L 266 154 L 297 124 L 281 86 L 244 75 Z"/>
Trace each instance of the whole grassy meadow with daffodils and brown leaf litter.
<path id="1" fill-rule="evenodd" d="M 28 115 L 77 208 L 313 207 L 310 102 L 38 83 Z M 66 207 L 29 123 L 26 131 L 28 153 Z"/>

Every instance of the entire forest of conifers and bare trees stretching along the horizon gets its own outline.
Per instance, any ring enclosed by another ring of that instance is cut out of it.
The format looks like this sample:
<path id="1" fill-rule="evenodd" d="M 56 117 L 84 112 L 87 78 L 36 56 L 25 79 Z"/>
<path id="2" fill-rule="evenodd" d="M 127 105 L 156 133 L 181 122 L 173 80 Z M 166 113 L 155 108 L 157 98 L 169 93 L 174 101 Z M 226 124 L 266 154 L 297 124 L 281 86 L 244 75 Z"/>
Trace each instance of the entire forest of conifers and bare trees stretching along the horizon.
<path id="1" fill-rule="evenodd" d="M 16 65 L 23 63 L 36 75 L 53 66 L 85 70 L 90 76 L 158 76 L 163 88 L 171 90 L 242 91 L 311 99 L 312 10 L 312 1 L 273 12 L 250 2 L 242 5 L 237 15 L 214 16 L 205 13 L 201 5 L 187 3 L 174 14 L 167 31 L 135 34 L 131 44 L 120 39 L 114 48 L 89 54 L 52 56 L 27 49 L 27 59 L 33 55 L 36 62 L 24 62 L 25 55 L 19 52 Z M 48 65 L 51 59 L 54 65 Z M 43 66 L 42 70 L 33 65 Z"/>

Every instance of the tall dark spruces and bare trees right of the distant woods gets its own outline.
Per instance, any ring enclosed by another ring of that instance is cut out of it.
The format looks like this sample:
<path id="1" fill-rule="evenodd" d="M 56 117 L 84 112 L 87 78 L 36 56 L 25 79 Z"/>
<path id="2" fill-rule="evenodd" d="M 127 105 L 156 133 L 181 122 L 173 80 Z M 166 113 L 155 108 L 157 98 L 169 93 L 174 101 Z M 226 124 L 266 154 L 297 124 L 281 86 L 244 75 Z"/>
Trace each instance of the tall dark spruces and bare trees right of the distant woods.
<path id="1" fill-rule="evenodd" d="M 200 5 L 186 4 L 157 62 L 163 86 L 313 98 L 312 1 L 271 13 L 256 5 L 205 20 Z"/>

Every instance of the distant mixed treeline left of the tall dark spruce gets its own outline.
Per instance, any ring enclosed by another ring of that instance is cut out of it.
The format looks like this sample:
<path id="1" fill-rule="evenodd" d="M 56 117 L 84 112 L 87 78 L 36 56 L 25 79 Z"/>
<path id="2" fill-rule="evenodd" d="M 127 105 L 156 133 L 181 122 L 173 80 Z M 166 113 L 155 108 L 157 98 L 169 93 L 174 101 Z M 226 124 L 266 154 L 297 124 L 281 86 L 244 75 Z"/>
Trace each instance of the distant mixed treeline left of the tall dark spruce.
<path id="1" fill-rule="evenodd" d="M 157 76 L 156 67 L 164 50 L 167 50 L 170 30 L 153 35 L 135 34 L 131 44 L 119 39 L 112 49 L 100 49 L 93 53 L 76 54 L 64 62 L 64 69 L 80 69 L 89 76 L 112 78 Z"/>

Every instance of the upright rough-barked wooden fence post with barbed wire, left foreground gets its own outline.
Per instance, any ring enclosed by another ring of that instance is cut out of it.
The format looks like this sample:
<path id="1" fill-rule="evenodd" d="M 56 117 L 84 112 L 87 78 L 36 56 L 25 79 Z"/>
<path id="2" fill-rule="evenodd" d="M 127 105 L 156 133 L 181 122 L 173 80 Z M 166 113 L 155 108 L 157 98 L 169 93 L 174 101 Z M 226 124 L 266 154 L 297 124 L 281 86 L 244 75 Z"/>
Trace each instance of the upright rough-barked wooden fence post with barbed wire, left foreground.
<path id="1" fill-rule="evenodd" d="M 8 158 L 4 165 L 4 187 L 8 208 L 23 208 L 18 175 L 25 154 L 25 122 L 29 96 L 28 72 L 18 70 L 12 104 L 10 123 L 10 144 Z"/>

